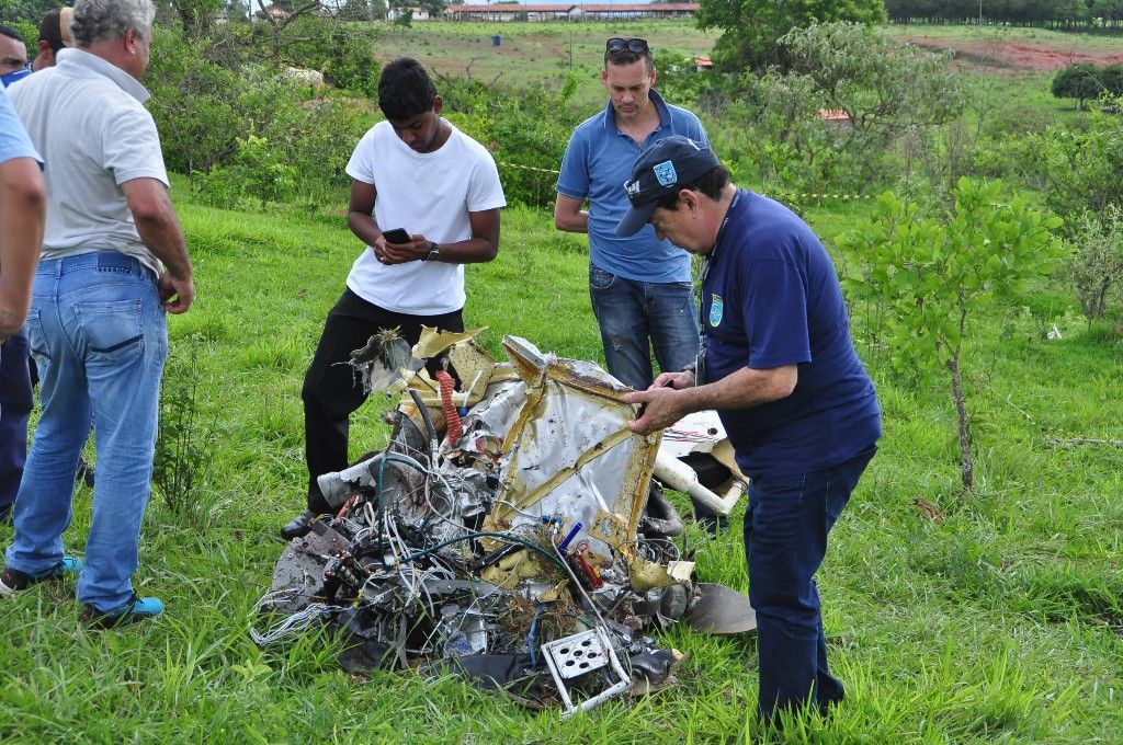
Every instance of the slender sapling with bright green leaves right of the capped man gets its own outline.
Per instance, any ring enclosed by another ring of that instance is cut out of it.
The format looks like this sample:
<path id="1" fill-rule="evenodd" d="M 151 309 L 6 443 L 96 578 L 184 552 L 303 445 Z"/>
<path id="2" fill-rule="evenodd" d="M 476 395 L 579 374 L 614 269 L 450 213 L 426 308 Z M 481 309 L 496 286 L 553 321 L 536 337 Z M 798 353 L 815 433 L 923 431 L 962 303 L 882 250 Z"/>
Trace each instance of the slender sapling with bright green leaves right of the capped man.
<path id="1" fill-rule="evenodd" d="M 1061 221 L 1021 199 L 1002 203 L 997 181 L 961 178 L 951 195 L 948 214 L 925 219 L 915 203 L 885 193 L 874 218 L 841 242 L 870 257 L 869 279 L 848 278 L 846 287 L 888 309 L 894 364 L 935 362 L 947 370 L 958 416 L 960 475 L 970 491 L 975 467 L 961 367 L 970 322 L 996 298 L 1026 292 L 1031 280 L 1051 270 L 1061 250 L 1051 231 Z"/>

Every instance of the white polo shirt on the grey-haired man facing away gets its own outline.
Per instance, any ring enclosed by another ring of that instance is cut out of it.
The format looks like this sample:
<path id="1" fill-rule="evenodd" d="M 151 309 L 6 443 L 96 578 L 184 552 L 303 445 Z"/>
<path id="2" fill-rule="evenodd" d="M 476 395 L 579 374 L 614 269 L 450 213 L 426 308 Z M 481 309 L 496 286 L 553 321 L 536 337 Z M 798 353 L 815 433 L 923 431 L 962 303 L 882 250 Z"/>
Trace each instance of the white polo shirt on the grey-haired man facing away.
<path id="1" fill-rule="evenodd" d="M 134 178 L 167 185 L 145 86 L 101 57 L 60 49 L 56 66 L 8 93 L 45 164 L 43 258 L 112 249 L 159 274 L 120 187 Z"/>

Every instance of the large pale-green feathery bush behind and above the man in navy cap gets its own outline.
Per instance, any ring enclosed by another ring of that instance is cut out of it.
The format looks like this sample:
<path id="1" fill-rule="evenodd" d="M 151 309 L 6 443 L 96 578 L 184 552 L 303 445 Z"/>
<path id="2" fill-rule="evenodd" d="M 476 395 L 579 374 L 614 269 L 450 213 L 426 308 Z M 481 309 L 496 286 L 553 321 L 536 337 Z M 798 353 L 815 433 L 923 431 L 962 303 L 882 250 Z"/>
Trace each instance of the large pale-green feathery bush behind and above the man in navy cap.
<path id="1" fill-rule="evenodd" d="M 734 83 L 739 102 L 723 112 L 734 122 L 730 129 L 751 130 L 743 144 L 763 181 L 776 177 L 797 191 L 865 191 L 914 169 L 931 184 L 962 174 L 967 159 L 948 147 L 960 139 L 938 136 L 968 101 L 948 55 L 857 24 L 793 29 L 780 44 L 787 70 L 742 73 Z"/>

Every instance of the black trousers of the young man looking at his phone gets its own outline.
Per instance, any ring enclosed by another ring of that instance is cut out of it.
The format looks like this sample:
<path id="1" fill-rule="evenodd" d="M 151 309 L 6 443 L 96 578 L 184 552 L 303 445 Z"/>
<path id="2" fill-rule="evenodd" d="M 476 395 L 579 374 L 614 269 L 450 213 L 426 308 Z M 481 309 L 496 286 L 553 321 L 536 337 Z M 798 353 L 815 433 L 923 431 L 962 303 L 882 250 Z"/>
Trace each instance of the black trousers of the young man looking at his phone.
<path id="1" fill-rule="evenodd" d="M 410 346 L 417 343 L 421 326 L 464 331 L 462 311 L 440 315 L 407 315 L 368 303 L 350 289 L 328 313 L 312 365 L 304 375 L 304 454 L 308 460 L 308 507 L 332 512 L 320 494 L 317 477 L 343 470 L 349 465 L 347 439 L 350 415 L 366 401 L 363 383 L 347 362 L 383 329 L 399 329 Z"/>

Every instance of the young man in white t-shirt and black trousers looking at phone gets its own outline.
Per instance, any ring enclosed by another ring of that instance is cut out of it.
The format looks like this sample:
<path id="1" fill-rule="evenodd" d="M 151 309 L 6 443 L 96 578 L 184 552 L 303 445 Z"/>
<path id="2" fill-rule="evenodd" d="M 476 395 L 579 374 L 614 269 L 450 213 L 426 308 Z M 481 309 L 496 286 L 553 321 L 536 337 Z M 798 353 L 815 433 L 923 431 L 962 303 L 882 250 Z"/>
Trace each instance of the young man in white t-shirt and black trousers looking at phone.
<path id="1" fill-rule="evenodd" d="M 363 136 L 350 162 L 347 224 L 367 248 L 328 313 L 304 376 L 308 509 L 281 528 L 304 535 L 318 514 L 332 509 L 317 477 L 347 467 L 349 417 L 366 393 L 347 365 L 350 351 L 383 329 L 399 329 L 411 344 L 421 326 L 464 330 L 464 265 L 499 251 L 499 211 L 506 204 L 487 150 L 441 119 L 442 102 L 416 59 L 394 59 L 378 80 L 386 121 Z M 405 242 L 384 231 L 403 229 Z"/>

